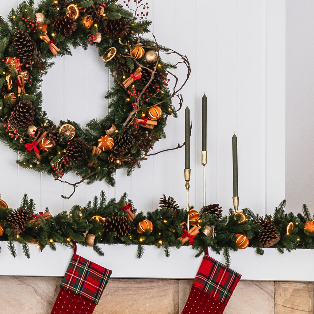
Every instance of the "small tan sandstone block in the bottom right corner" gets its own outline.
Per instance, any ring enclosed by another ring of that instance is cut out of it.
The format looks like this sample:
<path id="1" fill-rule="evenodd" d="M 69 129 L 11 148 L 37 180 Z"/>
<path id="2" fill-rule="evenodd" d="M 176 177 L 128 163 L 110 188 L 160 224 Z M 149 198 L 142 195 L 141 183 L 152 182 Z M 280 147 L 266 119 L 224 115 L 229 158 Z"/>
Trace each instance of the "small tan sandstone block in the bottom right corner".
<path id="1" fill-rule="evenodd" d="M 312 314 L 313 283 L 276 282 L 275 314 Z"/>

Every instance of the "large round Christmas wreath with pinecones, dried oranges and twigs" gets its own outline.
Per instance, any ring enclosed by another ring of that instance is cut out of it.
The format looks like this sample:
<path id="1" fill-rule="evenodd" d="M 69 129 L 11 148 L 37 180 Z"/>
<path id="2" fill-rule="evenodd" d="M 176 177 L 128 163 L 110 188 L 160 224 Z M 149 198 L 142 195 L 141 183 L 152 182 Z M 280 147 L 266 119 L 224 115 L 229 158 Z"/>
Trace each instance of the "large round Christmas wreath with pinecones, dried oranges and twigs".
<path id="1" fill-rule="evenodd" d="M 8 21 L 0 17 L 0 140 L 21 155 L 20 166 L 59 181 L 73 171 L 80 182 L 114 185 L 117 169 L 130 175 L 165 138 L 167 117 L 176 117 L 182 106 L 178 91 L 189 77 L 189 62 L 154 35 L 144 37 L 151 24 L 148 3 L 134 2 L 131 9 L 130 0 L 124 1 L 126 8 L 112 0 L 42 0 L 34 8 L 29 0 L 12 9 Z M 86 128 L 69 120 L 54 123 L 41 108 L 42 78 L 53 57 L 71 55 L 69 45 L 96 45 L 114 78 L 105 96 L 111 99 L 108 115 Z M 178 55 L 178 63 L 187 66 L 181 86 L 170 72 L 176 65 L 163 62 L 161 52 Z M 172 105 L 175 96 L 178 109 Z"/>

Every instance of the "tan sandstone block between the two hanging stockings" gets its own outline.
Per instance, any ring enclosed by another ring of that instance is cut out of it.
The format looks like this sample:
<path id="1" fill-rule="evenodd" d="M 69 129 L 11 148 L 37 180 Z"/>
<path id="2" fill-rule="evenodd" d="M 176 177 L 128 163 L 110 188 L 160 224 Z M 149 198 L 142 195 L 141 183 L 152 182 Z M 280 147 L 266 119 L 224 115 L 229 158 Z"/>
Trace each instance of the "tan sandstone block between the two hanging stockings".
<path id="1" fill-rule="evenodd" d="M 94 314 L 176 314 L 178 280 L 110 279 Z"/>

